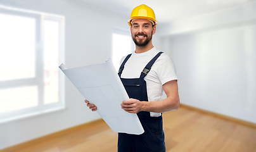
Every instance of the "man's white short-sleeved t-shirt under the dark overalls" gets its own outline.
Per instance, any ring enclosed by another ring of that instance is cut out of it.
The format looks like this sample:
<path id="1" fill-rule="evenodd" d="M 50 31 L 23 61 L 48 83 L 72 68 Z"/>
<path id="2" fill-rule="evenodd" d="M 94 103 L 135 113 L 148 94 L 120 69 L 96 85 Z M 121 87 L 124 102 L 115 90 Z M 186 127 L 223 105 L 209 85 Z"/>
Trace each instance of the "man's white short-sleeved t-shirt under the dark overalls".
<path id="1" fill-rule="evenodd" d="M 153 47 L 144 53 L 133 52 L 129 60 L 124 65 L 121 78 L 132 79 L 139 78 L 144 67 L 150 62 L 160 50 Z M 124 61 L 124 56 L 120 65 Z M 158 101 L 163 95 L 162 85 L 170 80 L 177 80 L 176 69 L 170 57 L 162 53 L 151 66 L 150 72 L 144 77 L 146 81 L 146 89 L 148 92 L 148 101 Z M 159 117 L 161 113 L 150 112 L 151 117 Z"/>

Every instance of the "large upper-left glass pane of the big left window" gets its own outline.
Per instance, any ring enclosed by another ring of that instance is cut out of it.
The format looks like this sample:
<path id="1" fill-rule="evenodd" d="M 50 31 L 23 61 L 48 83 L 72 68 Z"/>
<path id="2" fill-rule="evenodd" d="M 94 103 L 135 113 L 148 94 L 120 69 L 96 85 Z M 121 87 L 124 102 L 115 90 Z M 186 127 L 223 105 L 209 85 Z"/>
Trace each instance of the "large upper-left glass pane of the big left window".
<path id="1" fill-rule="evenodd" d="M 0 13 L 0 81 L 35 77 L 35 19 Z"/>

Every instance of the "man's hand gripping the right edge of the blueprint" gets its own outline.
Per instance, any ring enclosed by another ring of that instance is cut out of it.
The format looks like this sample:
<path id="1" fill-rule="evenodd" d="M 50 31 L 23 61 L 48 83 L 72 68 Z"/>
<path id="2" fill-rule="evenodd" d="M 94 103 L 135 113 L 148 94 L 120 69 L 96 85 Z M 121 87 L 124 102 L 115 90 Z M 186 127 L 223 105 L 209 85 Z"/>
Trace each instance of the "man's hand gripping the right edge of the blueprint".
<path id="1" fill-rule="evenodd" d="M 143 101 L 132 98 L 130 100 L 123 101 L 121 106 L 124 111 L 129 113 L 139 113 L 139 111 L 142 111 L 142 108 L 144 107 Z"/>

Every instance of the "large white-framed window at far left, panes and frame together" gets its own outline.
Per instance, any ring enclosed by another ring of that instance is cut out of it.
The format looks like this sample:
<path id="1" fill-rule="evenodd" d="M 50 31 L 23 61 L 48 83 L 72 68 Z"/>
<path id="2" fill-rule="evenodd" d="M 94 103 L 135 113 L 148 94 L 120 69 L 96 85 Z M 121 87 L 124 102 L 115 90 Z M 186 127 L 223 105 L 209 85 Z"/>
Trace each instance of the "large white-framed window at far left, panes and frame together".
<path id="1" fill-rule="evenodd" d="M 0 122 L 61 109 L 64 17 L 0 5 Z"/>

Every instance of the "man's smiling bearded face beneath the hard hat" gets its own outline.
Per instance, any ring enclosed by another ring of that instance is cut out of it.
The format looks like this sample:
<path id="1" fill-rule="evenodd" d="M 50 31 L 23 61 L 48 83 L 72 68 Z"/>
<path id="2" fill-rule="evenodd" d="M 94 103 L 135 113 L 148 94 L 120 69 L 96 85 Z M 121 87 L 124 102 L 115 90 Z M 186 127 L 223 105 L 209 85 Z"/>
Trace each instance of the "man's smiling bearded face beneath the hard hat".
<path id="1" fill-rule="evenodd" d="M 152 26 L 149 20 L 136 19 L 132 22 L 132 40 L 136 46 L 143 47 L 152 44 L 152 35 L 155 34 L 156 27 Z"/>

